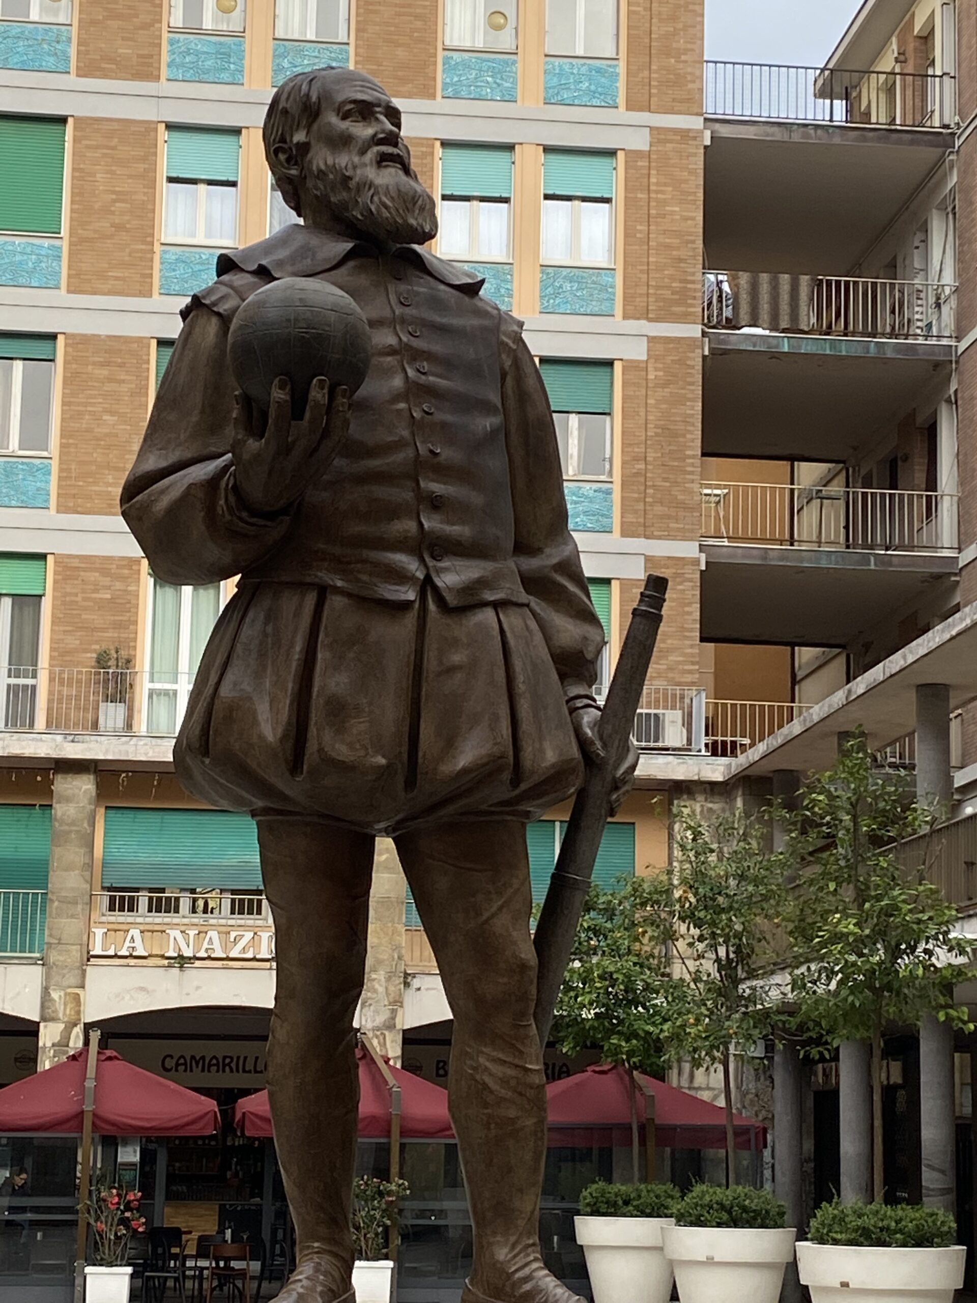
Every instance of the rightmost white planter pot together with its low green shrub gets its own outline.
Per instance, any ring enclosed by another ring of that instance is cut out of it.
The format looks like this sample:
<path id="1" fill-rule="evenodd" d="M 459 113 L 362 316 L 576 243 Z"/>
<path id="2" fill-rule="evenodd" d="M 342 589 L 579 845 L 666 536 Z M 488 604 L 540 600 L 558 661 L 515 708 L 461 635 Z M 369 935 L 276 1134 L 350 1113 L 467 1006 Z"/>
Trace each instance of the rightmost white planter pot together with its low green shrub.
<path id="1" fill-rule="evenodd" d="M 954 1243 L 956 1222 L 941 1208 L 835 1199 L 818 1208 L 808 1234 L 797 1272 L 812 1303 L 952 1303 L 963 1289 L 967 1250 Z"/>

